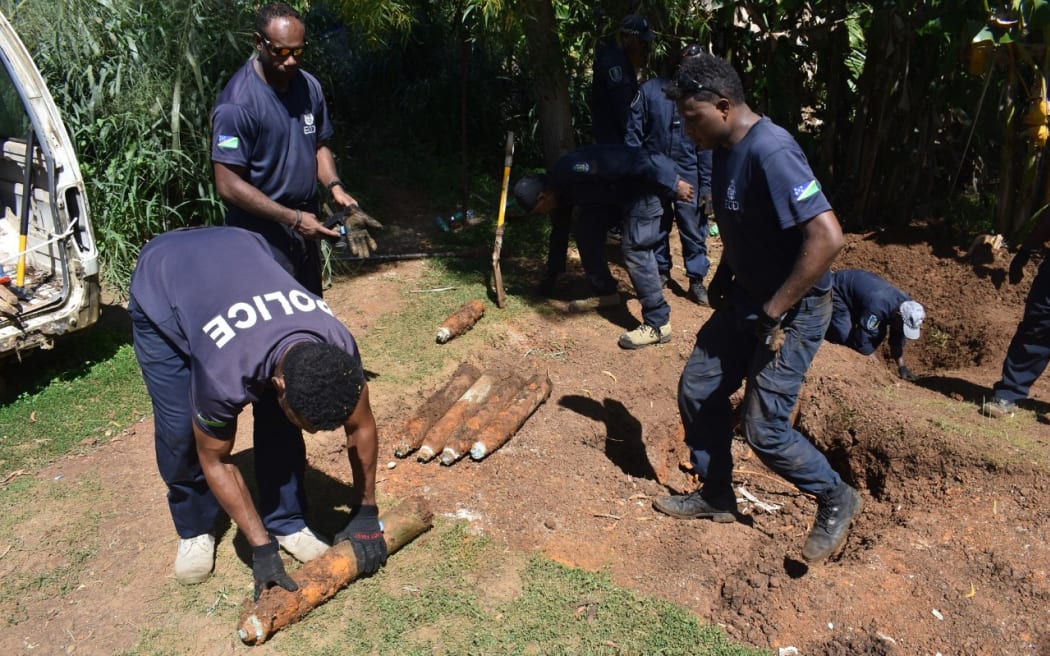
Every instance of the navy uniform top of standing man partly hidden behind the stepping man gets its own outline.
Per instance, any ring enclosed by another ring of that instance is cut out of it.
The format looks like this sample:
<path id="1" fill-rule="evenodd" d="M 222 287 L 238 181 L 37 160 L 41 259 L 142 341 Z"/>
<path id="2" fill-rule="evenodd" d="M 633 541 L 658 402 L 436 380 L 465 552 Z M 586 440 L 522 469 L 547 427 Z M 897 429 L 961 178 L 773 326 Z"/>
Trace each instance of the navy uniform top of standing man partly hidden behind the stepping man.
<path id="1" fill-rule="evenodd" d="M 631 101 L 624 143 L 667 155 L 681 179 L 696 187 L 692 205 L 711 193 L 711 151 L 697 148 L 686 135 L 674 101 L 664 93 L 667 78 L 653 78 L 638 87 Z"/>

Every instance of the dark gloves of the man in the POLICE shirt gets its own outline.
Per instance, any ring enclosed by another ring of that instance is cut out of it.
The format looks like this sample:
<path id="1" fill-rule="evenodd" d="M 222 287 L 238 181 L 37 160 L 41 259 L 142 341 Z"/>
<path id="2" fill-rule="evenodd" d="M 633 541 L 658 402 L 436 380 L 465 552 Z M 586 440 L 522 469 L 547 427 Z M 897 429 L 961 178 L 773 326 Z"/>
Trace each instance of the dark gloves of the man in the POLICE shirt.
<path id="1" fill-rule="evenodd" d="M 386 562 L 386 541 L 383 539 L 383 527 L 379 523 L 379 509 L 376 506 L 359 506 L 350 515 L 350 523 L 335 534 L 333 544 L 350 541 L 357 558 L 357 571 L 360 574 L 375 574 Z M 252 575 L 255 578 L 255 600 L 264 590 L 280 586 L 289 592 L 299 589 L 295 581 L 285 571 L 280 560 L 280 547 L 277 541 L 270 541 L 261 547 L 252 547 Z"/>

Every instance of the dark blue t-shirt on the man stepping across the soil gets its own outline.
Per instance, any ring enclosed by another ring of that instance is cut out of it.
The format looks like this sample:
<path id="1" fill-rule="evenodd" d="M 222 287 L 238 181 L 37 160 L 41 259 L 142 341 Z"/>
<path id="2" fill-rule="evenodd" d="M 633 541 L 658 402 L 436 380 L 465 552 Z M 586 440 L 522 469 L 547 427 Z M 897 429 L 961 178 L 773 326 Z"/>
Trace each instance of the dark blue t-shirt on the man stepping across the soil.
<path id="1" fill-rule="evenodd" d="M 768 118 L 732 148 L 716 148 L 711 194 L 722 257 L 755 303 L 788 278 L 802 246 L 799 226 L 832 209 L 798 143 Z M 812 292 L 826 292 L 824 272 Z"/>

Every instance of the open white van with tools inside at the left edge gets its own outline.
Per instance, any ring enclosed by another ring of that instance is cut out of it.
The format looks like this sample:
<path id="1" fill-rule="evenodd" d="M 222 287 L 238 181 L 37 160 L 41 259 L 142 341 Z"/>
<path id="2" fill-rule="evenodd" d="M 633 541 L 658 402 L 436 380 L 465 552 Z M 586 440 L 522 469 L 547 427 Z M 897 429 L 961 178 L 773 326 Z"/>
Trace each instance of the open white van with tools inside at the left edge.
<path id="1" fill-rule="evenodd" d="M 5 284 L 21 299 L 16 316 L 0 315 L 2 366 L 98 321 L 100 284 L 72 141 L 3 14 L 0 60 L 0 280 L 9 277 Z"/>

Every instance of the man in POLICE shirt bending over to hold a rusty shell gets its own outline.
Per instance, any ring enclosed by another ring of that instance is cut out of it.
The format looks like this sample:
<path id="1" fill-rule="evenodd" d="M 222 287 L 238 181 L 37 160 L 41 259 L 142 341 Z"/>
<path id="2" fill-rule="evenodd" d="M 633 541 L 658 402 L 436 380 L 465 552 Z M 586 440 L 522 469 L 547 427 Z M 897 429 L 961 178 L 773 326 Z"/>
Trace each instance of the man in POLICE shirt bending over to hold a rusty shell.
<path id="1" fill-rule="evenodd" d="M 222 508 L 252 547 L 255 598 L 274 585 L 295 590 L 278 546 L 302 562 L 328 549 L 303 520 L 302 430 L 337 426 L 354 487 L 335 542 L 351 542 L 362 572 L 378 570 L 386 544 L 376 508 L 376 420 L 357 343 L 266 239 L 240 228 L 153 238 L 131 276 L 128 313 L 180 537 L 175 578 L 195 584 L 211 573 Z M 237 415 L 249 403 L 258 511 L 231 460 Z"/>

